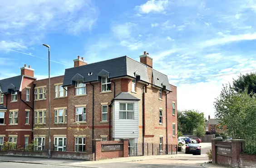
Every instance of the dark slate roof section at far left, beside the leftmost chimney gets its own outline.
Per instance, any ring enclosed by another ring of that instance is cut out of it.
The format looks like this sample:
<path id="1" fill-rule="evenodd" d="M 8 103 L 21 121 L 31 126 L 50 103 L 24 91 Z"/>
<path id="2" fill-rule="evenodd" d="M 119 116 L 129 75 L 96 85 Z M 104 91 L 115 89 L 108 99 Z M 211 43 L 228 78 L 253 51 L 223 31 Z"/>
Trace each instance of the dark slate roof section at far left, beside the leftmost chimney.
<path id="1" fill-rule="evenodd" d="M 10 77 L 0 80 L 0 88 L 2 90 L 2 93 L 7 93 L 8 89 L 19 91 L 22 82 L 22 77 L 22 75 L 19 75 L 16 77 Z"/>

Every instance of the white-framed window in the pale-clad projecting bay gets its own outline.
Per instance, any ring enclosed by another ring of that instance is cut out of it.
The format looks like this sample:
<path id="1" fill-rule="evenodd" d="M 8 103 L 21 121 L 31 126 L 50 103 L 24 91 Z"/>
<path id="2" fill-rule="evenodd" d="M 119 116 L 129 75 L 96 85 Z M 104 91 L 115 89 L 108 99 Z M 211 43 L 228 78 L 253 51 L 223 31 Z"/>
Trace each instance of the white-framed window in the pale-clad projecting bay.
<path id="1" fill-rule="evenodd" d="M 134 120 L 133 103 L 119 103 L 119 119 Z"/>

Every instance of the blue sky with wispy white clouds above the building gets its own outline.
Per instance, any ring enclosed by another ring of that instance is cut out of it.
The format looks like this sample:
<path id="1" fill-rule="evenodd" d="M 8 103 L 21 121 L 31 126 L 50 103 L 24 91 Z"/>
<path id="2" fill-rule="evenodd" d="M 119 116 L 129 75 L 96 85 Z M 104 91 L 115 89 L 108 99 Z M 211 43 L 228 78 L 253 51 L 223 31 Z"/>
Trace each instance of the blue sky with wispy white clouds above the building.
<path id="1" fill-rule="evenodd" d="M 0 3 L 0 78 L 24 64 L 38 79 L 64 74 L 77 55 L 98 62 L 147 51 L 178 86 L 178 109 L 214 115 L 222 83 L 256 69 L 254 0 L 8 0 Z M 194 80 L 194 81 L 191 81 Z"/>

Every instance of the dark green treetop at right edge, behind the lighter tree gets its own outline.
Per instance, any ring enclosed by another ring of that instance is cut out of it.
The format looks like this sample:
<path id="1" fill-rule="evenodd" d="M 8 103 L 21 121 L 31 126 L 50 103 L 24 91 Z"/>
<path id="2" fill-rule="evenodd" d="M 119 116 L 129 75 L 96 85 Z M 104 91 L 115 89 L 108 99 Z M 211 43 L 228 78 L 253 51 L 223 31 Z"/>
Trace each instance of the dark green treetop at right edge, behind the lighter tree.
<path id="1" fill-rule="evenodd" d="M 246 73 L 246 75 L 240 74 L 238 79 L 233 79 L 233 86 L 235 91 L 245 91 L 247 88 L 247 93 L 250 94 L 251 92 L 256 93 L 256 73 L 251 72 Z"/>

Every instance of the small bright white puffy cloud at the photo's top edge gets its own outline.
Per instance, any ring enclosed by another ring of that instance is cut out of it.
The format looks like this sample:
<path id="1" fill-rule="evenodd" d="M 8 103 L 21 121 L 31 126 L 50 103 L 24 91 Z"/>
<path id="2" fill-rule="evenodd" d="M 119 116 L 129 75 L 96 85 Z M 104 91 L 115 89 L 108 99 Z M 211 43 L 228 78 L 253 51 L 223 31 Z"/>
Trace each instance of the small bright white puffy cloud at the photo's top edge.
<path id="1" fill-rule="evenodd" d="M 140 13 L 162 13 L 167 9 L 168 0 L 148 0 L 145 4 L 136 6 Z"/>

